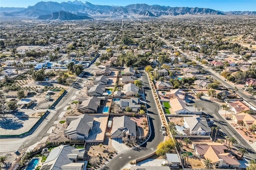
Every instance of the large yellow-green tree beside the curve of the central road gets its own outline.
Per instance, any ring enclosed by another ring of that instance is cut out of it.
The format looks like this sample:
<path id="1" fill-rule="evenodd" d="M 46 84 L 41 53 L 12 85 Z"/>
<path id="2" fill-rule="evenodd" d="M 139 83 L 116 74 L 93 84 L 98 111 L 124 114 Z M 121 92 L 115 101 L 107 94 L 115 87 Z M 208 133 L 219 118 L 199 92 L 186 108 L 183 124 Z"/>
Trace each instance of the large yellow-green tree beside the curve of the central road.
<path id="1" fill-rule="evenodd" d="M 157 146 L 156 154 L 158 156 L 164 156 L 166 153 L 175 153 L 175 143 L 172 139 L 160 142 Z"/>

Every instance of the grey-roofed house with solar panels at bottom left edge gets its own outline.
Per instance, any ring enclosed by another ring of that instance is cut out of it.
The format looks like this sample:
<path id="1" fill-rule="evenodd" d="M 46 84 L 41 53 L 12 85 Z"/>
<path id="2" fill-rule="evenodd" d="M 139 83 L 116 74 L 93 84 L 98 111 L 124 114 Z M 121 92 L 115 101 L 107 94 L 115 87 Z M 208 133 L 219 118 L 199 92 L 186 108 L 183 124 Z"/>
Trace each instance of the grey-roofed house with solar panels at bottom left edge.
<path id="1" fill-rule="evenodd" d="M 76 149 L 68 145 L 60 145 L 51 150 L 42 170 L 86 170 L 85 149 Z"/>

